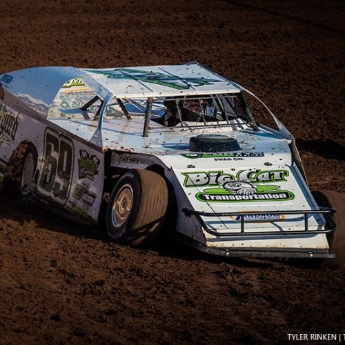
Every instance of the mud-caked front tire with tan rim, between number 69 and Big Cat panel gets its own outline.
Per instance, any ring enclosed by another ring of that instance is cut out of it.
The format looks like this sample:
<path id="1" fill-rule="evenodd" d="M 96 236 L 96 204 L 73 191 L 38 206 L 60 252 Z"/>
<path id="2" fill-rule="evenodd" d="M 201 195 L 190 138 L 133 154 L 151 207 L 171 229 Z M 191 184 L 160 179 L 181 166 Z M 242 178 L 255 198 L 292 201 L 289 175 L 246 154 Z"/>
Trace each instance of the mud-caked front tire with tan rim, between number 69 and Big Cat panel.
<path id="1" fill-rule="evenodd" d="M 151 246 L 159 236 L 168 207 L 164 178 L 148 170 L 130 170 L 117 181 L 106 211 L 111 239 Z"/>

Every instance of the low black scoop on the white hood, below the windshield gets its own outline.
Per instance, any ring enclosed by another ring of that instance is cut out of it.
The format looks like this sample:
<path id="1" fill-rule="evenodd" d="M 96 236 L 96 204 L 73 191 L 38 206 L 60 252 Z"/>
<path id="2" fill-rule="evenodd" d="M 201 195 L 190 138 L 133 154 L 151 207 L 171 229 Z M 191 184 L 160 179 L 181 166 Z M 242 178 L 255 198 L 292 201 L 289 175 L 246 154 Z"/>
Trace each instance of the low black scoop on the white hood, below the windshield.
<path id="1" fill-rule="evenodd" d="M 241 150 L 237 139 L 227 135 L 201 134 L 191 137 L 189 149 L 193 152 L 228 152 Z"/>

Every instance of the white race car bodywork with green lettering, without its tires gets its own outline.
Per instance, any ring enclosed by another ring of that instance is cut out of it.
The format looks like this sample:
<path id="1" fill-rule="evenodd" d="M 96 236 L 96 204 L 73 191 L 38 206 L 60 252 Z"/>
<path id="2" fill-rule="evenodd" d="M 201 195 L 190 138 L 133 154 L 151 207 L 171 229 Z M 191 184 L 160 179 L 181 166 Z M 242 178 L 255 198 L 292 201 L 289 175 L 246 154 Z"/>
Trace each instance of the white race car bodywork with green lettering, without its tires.
<path id="1" fill-rule="evenodd" d="M 226 256 L 334 257 L 327 239 L 334 210 L 317 206 L 295 140 L 272 114 L 279 130 L 228 115 L 155 121 L 166 97 L 247 92 L 198 63 L 28 68 L 0 75 L 0 86 L 0 184 L 14 150 L 30 143 L 37 150 L 32 199 L 97 224 L 108 169 L 155 167 L 175 197 L 175 235 L 188 244 Z M 82 109 L 85 97 L 97 97 L 91 113 Z M 191 150 L 198 135 L 239 147 Z"/>

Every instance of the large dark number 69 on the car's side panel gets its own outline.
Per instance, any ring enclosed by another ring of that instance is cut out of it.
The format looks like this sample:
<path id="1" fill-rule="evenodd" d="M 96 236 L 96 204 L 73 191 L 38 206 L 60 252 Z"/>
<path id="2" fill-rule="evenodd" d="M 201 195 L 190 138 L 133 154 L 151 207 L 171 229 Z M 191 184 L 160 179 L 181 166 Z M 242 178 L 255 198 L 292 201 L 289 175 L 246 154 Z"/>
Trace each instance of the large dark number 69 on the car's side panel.
<path id="1" fill-rule="evenodd" d="M 59 204 L 70 193 L 73 169 L 73 143 L 50 128 L 44 135 L 44 154 L 39 174 L 39 191 Z"/>

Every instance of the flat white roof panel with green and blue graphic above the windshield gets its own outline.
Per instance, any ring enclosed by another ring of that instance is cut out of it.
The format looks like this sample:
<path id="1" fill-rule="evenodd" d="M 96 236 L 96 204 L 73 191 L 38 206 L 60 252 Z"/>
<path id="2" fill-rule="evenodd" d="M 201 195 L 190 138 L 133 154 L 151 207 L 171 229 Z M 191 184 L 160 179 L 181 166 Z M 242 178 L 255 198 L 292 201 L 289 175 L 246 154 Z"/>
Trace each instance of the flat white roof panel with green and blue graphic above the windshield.
<path id="1" fill-rule="evenodd" d="M 239 92 L 239 87 L 199 65 L 85 69 L 117 97 L 159 97 Z"/>

